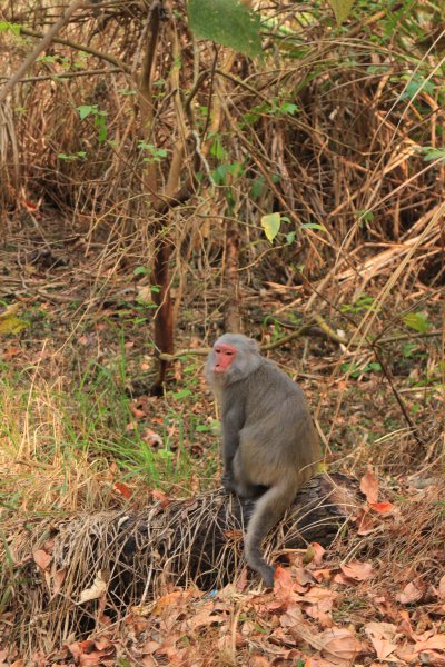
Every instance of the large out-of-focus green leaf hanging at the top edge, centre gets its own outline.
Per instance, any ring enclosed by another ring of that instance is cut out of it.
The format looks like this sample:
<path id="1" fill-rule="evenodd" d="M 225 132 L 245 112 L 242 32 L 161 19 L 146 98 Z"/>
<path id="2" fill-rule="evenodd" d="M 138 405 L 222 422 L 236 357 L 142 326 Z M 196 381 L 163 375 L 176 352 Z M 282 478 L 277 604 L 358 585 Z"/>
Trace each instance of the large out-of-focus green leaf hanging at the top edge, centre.
<path id="1" fill-rule="evenodd" d="M 188 20 L 196 37 L 254 57 L 261 53 L 259 14 L 238 0 L 189 0 Z"/>

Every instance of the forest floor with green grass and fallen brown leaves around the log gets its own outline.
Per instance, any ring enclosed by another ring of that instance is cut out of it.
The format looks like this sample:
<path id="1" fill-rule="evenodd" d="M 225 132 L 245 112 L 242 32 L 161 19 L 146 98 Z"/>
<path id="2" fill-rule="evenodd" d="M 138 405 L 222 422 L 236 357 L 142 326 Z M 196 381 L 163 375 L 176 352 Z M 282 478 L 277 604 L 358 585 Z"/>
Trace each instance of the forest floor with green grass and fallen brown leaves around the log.
<path id="1" fill-rule="evenodd" d="M 219 590 L 166 583 L 117 623 L 101 590 L 90 598 L 93 631 L 76 636 L 68 618 L 62 638 L 27 639 L 22 618 L 38 626 L 62 594 L 42 538 L 28 560 L 52 597 L 46 609 L 23 607 L 17 545 L 39 521 L 135 514 L 217 488 L 220 476 L 205 357 L 180 357 L 166 395 L 151 397 L 148 276 L 130 256 L 51 229 L 10 229 L 0 256 L 0 665 L 445 666 L 441 293 L 422 283 L 403 296 L 405 309 L 422 311 L 419 327 L 388 330 L 395 340 L 379 362 L 324 337 L 269 354 L 308 396 L 326 468 L 362 480 L 366 500 L 338 545 L 288 555 L 273 591 L 245 569 Z M 346 300 L 344 313 L 360 319 L 378 289 L 376 280 Z M 190 278 L 180 296 L 177 347 L 202 352 L 220 328 L 220 295 Z M 263 342 L 288 334 L 306 296 L 264 283 L 259 298 L 245 287 L 246 332 Z M 385 302 L 383 319 L 399 299 Z M 332 311 L 329 326 L 350 336 L 337 319 Z"/>

